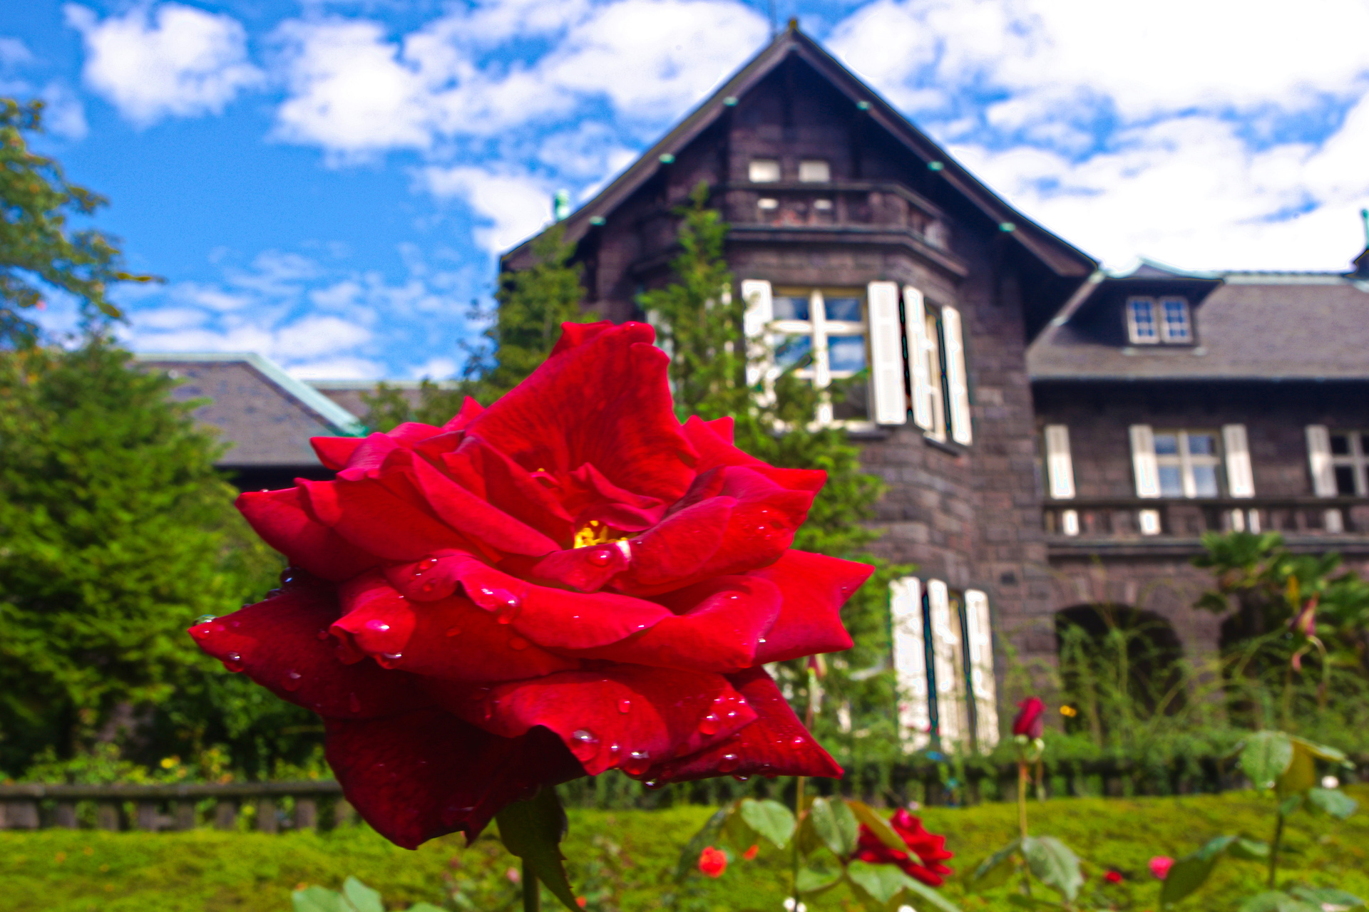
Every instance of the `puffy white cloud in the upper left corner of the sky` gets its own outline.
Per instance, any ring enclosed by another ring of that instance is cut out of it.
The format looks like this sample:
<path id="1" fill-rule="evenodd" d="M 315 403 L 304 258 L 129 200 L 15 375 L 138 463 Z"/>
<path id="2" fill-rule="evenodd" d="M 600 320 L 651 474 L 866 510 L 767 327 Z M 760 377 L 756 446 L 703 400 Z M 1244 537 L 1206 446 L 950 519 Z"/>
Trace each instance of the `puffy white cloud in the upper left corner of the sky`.
<path id="1" fill-rule="evenodd" d="M 64 8 L 85 40 L 85 82 L 140 127 L 167 116 L 219 113 L 263 74 L 248 60 L 246 33 L 227 15 L 175 3 L 137 5 L 100 19 Z"/>

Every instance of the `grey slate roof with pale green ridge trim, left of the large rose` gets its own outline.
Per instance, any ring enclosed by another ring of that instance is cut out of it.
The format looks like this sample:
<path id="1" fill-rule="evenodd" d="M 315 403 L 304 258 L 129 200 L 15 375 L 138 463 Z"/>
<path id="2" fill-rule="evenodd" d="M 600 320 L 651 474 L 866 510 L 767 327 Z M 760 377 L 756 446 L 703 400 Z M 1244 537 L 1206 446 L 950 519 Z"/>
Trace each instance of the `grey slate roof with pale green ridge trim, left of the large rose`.
<path id="1" fill-rule="evenodd" d="M 356 416 L 259 354 L 142 353 L 134 360 L 174 372 L 182 380 L 174 399 L 212 399 L 194 417 L 231 444 L 219 461 L 225 468 L 318 468 L 309 438 L 364 433 Z"/>

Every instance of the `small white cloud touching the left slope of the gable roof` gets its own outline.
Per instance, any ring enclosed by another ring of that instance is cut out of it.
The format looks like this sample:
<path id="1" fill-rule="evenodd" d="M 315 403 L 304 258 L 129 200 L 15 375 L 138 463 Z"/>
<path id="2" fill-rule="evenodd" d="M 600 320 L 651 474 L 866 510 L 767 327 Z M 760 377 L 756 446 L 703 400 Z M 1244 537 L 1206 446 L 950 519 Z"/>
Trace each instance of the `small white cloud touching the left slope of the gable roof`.
<path id="1" fill-rule="evenodd" d="M 553 189 L 531 176 L 428 165 L 418 178 L 433 196 L 459 197 L 475 211 L 485 223 L 475 230 L 475 242 L 490 253 L 509 249 L 552 220 Z"/>

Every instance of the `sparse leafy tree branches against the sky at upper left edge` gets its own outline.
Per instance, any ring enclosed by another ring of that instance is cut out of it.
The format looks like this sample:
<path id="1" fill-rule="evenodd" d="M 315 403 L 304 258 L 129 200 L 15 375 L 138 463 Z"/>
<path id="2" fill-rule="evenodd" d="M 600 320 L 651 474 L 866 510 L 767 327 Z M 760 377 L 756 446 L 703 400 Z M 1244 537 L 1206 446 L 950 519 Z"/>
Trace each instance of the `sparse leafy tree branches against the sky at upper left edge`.
<path id="1" fill-rule="evenodd" d="M 110 286 L 155 280 L 122 268 L 114 238 L 68 231 L 70 216 L 89 216 L 108 201 L 67 183 L 60 164 L 29 149 L 25 134 L 41 129 L 41 101 L 0 98 L 0 345 L 36 342 L 37 325 L 23 312 L 45 306 L 45 289 L 77 297 L 88 316 L 116 319 Z"/>

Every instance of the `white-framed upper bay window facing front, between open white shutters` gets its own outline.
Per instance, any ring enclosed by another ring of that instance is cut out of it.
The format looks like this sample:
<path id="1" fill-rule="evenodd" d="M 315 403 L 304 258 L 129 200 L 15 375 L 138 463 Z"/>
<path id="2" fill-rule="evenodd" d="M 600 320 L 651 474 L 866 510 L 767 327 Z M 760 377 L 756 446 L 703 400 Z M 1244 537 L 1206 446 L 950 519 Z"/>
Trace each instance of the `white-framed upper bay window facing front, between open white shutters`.
<path id="1" fill-rule="evenodd" d="M 773 297 L 775 368 L 793 369 L 817 390 L 849 380 L 867 365 L 865 293 L 857 289 L 776 289 Z M 842 384 L 838 384 L 842 386 Z M 845 401 L 823 397 L 817 421 L 865 421 L 864 388 L 850 384 Z"/>

